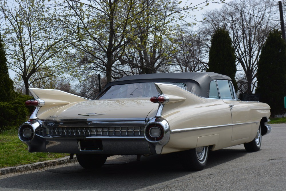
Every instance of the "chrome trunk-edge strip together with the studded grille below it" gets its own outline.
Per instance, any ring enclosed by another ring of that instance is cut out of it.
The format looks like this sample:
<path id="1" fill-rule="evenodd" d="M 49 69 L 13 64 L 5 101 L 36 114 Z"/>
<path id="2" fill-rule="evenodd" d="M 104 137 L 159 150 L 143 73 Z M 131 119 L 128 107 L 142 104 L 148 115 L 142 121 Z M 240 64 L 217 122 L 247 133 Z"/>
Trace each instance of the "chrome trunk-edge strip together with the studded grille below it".
<path id="1" fill-rule="evenodd" d="M 52 119 L 35 131 L 43 138 L 144 138 L 146 118 Z"/>

